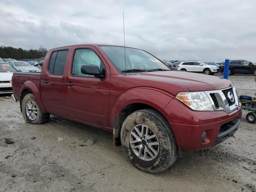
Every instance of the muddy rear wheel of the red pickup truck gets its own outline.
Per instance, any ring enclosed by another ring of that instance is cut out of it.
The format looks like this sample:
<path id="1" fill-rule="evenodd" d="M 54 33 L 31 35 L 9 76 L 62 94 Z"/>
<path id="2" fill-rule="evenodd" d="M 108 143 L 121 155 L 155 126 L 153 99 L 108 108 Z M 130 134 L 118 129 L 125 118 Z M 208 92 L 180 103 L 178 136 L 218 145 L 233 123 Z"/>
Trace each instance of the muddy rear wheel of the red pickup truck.
<path id="1" fill-rule="evenodd" d="M 36 103 L 35 96 L 26 94 L 22 100 L 22 116 L 27 123 L 42 124 L 50 118 L 50 114 L 43 113 Z"/>

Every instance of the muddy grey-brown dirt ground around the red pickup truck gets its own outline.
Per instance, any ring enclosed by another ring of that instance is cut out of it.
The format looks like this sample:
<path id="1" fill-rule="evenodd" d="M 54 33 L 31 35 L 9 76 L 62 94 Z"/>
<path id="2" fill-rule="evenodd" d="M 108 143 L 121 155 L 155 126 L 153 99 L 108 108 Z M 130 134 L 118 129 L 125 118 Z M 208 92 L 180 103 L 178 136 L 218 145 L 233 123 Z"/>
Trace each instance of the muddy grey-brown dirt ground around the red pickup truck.
<path id="1" fill-rule="evenodd" d="M 230 80 L 238 94 L 256 92 L 253 76 Z M 122 147 L 112 145 L 110 132 L 56 116 L 42 125 L 27 124 L 19 103 L 2 95 L 0 191 L 256 192 L 256 124 L 245 115 L 236 138 L 188 153 L 166 172 L 151 175 L 126 160 Z M 93 138 L 94 145 L 80 146 Z"/>

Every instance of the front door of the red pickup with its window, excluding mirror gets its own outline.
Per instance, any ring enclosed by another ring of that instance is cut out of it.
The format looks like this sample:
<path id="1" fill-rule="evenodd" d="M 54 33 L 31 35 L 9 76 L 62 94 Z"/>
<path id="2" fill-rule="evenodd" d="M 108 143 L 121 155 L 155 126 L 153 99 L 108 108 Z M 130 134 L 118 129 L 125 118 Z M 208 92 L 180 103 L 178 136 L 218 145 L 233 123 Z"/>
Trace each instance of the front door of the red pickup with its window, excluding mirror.
<path id="1" fill-rule="evenodd" d="M 102 55 L 92 46 L 76 46 L 66 85 L 66 115 L 78 120 L 108 126 L 110 69 Z M 98 66 L 104 78 L 81 73 L 81 66 Z"/>

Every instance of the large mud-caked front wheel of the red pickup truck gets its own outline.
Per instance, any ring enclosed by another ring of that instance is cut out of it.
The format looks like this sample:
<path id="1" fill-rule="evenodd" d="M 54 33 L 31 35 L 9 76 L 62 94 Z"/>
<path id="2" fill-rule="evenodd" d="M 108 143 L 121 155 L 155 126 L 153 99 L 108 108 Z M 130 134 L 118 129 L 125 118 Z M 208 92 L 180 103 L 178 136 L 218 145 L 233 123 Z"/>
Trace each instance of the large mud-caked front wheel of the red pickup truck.
<path id="1" fill-rule="evenodd" d="M 178 148 L 170 124 L 153 109 L 135 111 L 124 120 L 121 143 L 128 160 L 151 174 L 163 172 L 177 159 Z"/>

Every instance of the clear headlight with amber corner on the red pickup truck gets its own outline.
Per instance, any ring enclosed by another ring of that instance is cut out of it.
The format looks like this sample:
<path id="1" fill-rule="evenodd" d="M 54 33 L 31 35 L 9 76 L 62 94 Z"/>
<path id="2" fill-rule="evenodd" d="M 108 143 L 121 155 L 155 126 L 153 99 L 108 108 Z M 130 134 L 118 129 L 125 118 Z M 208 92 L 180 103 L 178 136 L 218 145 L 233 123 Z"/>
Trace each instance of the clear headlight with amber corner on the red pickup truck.
<path id="1" fill-rule="evenodd" d="M 180 92 L 176 95 L 186 106 L 196 111 L 213 111 L 212 103 L 205 92 Z"/>

